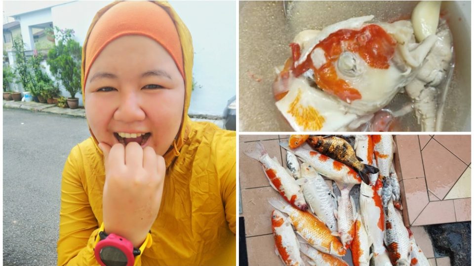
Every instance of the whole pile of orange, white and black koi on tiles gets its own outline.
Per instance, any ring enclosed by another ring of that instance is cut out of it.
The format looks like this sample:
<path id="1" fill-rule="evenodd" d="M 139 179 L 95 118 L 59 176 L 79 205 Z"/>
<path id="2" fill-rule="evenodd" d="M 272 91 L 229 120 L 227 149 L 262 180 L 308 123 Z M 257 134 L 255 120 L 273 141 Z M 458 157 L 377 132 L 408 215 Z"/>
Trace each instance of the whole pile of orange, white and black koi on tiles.
<path id="1" fill-rule="evenodd" d="M 312 266 L 348 265 L 340 257 L 350 249 L 354 266 L 430 266 L 399 211 L 392 135 L 291 135 L 280 146 L 287 150 L 286 167 L 261 142 L 245 154 L 262 164 L 284 199 L 268 200 L 284 265 L 304 266 L 301 253 Z M 337 189 L 331 191 L 323 176 Z M 358 208 L 354 186 L 360 186 Z"/>

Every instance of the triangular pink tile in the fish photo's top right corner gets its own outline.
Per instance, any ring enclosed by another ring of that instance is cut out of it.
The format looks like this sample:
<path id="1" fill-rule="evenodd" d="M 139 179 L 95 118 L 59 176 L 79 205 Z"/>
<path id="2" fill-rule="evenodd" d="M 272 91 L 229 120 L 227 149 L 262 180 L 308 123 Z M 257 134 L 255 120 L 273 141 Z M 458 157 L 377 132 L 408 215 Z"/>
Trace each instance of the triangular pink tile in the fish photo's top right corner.
<path id="1" fill-rule="evenodd" d="M 471 164 L 471 135 L 435 135 L 434 138 L 466 165 Z"/>

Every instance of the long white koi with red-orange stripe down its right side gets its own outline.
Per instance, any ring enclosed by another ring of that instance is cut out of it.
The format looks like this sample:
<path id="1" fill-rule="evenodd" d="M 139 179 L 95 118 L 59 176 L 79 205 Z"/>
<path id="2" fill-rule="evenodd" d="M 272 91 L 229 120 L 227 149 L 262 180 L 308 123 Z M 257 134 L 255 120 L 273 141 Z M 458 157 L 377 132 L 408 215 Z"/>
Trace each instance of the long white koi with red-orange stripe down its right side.
<path id="1" fill-rule="evenodd" d="M 374 185 L 360 184 L 360 215 L 369 241 L 374 245 L 374 254 L 386 252 L 384 246 L 385 214 L 382 199 L 377 193 L 381 187 L 382 181 L 380 179 L 377 179 Z"/>

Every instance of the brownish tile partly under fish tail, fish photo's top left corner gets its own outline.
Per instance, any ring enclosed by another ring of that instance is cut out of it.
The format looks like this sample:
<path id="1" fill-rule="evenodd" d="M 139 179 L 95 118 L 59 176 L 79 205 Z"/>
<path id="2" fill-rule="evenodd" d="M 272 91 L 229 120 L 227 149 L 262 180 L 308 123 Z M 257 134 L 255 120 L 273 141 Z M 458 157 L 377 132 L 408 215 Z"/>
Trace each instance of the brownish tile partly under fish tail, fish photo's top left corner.
<path id="1" fill-rule="evenodd" d="M 262 143 L 270 157 L 276 157 L 281 164 L 278 140 L 265 140 L 262 141 Z M 268 178 L 263 171 L 262 164 L 244 154 L 245 151 L 255 149 L 255 145 L 256 142 L 240 143 L 238 177 L 242 189 L 270 186 Z"/>

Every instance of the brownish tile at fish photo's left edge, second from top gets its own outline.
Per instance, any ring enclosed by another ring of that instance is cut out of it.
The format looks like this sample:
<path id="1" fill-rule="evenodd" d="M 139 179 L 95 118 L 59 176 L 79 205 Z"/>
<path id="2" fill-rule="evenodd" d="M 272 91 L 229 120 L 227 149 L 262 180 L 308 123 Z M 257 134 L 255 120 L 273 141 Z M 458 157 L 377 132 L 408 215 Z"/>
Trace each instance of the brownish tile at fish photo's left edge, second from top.
<path id="1" fill-rule="evenodd" d="M 268 199 L 281 198 L 272 187 L 242 190 L 242 209 L 245 217 L 246 236 L 272 233 L 272 211 Z"/>

